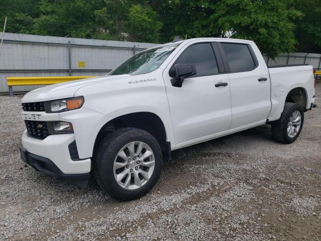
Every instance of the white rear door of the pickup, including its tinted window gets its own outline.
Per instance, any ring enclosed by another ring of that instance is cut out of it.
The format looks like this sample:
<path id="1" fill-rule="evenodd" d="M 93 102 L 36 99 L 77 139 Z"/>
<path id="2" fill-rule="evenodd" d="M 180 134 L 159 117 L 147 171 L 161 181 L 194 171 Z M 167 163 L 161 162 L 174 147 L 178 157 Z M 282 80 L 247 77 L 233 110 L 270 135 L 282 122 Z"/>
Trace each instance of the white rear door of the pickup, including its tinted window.
<path id="1" fill-rule="evenodd" d="M 230 129 L 264 122 L 271 109 L 270 79 L 249 44 L 218 43 L 231 85 Z"/>

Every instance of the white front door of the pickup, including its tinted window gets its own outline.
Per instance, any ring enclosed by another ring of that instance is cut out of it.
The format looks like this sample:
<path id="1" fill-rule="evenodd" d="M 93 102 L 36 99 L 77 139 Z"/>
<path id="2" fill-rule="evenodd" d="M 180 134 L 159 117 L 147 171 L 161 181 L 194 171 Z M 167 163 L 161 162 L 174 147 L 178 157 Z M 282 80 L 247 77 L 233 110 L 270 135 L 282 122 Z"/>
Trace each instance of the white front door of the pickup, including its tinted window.
<path id="1" fill-rule="evenodd" d="M 194 140 L 188 143 L 190 145 L 229 129 L 232 120 L 230 83 L 227 73 L 222 72 L 223 61 L 216 43 L 193 42 L 177 56 L 164 70 L 163 77 L 176 144 Z M 195 64 L 197 74 L 185 78 L 182 87 L 175 87 L 169 75 L 174 64 Z"/>

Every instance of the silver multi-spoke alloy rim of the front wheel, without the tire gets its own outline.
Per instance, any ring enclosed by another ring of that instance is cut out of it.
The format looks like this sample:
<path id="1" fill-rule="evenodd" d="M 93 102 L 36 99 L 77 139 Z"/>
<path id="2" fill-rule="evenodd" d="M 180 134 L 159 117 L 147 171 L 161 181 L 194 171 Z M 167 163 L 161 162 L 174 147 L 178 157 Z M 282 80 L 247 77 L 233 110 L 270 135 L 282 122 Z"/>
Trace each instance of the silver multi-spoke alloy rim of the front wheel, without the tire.
<path id="1" fill-rule="evenodd" d="M 127 190 L 136 190 L 145 185 L 155 168 L 155 156 L 143 142 L 130 142 L 118 152 L 113 166 L 118 185 Z"/>

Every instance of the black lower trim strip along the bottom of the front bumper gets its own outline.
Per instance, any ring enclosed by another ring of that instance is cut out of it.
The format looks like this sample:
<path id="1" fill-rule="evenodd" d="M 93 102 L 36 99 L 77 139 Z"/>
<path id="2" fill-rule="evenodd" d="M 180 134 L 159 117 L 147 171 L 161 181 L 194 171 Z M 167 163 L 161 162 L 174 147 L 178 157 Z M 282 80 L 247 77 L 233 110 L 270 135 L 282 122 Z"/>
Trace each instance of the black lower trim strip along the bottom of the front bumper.
<path id="1" fill-rule="evenodd" d="M 88 185 L 90 173 L 65 174 L 55 165 L 53 161 L 48 158 L 29 153 L 22 145 L 20 146 L 20 153 L 22 161 L 35 168 L 37 171 L 43 172 L 49 176 L 56 177 L 79 187 L 87 187 Z"/>

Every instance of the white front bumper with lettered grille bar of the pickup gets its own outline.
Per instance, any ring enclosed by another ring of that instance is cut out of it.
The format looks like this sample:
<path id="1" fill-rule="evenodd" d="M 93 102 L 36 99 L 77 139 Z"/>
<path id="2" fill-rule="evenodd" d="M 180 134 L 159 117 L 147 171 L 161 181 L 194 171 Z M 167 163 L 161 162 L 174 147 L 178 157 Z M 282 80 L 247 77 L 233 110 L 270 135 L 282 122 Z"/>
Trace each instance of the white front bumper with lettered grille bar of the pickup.
<path id="1" fill-rule="evenodd" d="M 91 171 L 91 157 L 96 136 L 101 127 L 110 121 L 110 117 L 84 106 L 61 113 L 22 111 L 22 116 L 27 121 L 72 123 L 74 133 L 52 134 L 44 139 L 28 136 L 25 130 L 22 136 L 22 146 L 28 153 L 26 160 L 37 160 L 37 162 L 28 161 L 37 170 L 60 179 L 68 179 L 69 182 L 71 182 L 69 179 L 75 178 L 74 176 L 76 179 L 86 180 Z M 35 165 L 39 160 L 43 164 Z M 43 165 L 49 165 L 49 171 L 39 168 Z M 80 185 L 83 186 L 83 184 Z"/>

